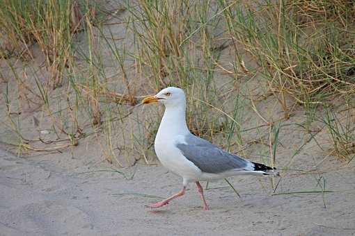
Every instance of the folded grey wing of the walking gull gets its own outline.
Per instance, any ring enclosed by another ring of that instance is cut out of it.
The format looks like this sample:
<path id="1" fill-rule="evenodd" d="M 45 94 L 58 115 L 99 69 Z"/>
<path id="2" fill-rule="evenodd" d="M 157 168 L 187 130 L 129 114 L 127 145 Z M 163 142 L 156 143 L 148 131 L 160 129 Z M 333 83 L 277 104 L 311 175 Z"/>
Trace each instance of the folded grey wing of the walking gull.
<path id="1" fill-rule="evenodd" d="M 232 169 L 244 169 L 250 163 L 192 134 L 185 137 L 185 142 L 187 144 L 179 143 L 176 146 L 185 158 L 206 173 L 218 174 Z"/>

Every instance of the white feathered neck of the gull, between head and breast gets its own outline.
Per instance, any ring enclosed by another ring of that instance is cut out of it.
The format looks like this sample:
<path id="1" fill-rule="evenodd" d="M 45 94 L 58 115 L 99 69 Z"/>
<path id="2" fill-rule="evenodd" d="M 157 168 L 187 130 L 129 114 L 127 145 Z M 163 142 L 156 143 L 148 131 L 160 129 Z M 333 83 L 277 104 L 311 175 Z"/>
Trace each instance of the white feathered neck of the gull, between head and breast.
<path id="1" fill-rule="evenodd" d="M 161 119 L 160 126 L 158 129 L 158 136 L 171 136 L 171 135 L 185 135 L 190 133 L 189 128 L 186 124 L 185 115 L 186 106 L 168 106 L 165 108 L 164 116 Z M 161 133 L 161 130 L 165 130 L 168 133 Z M 167 138 L 167 137 L 166 137 Z"/>

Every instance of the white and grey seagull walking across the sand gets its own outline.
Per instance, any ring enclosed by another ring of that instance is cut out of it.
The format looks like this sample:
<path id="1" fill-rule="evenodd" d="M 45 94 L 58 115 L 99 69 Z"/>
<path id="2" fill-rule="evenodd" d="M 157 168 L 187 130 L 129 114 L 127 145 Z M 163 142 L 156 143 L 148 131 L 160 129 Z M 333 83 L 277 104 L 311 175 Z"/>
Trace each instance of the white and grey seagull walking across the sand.
<path id="1" fill-rule="evenodd" d="M 208 210 L 200 180 L 216 180 L 236 175 L 279 175 L 275 168 L 245 160 L 193 135 L 187 128 L 186 96 L 182 89 L 166 87 L 154 96 L 146 96 L 142 101 L 143 104 L 156 102 L 163 103 L 165 111 L 155 137 L 155 153 L 161 165 L 182 177 L 182 190 L 148 207 L 160 208 L 168 204 L 183 196 L 187 185 L 195 182 L 203 209 Z"/>

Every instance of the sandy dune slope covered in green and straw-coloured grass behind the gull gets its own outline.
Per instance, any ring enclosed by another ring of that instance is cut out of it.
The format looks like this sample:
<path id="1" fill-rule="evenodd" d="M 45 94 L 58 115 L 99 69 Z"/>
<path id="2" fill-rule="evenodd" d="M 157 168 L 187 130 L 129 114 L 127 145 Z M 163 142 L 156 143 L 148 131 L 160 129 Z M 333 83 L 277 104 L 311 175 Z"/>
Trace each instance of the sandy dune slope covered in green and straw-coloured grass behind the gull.
<path id="1" fill-rule="evenodd" d="M 233 153 L 258 146 L 278 166 L 283 129 L 296 122 L 306 140 L 324 130 L 328 154 L 354 157 L 353 1 L 0 4 L 1 124 L 18 153 L 94 137 L 109 162 L 150 163 L 162 110 L 136 105 L 178 86 L 191 132 Z"/>

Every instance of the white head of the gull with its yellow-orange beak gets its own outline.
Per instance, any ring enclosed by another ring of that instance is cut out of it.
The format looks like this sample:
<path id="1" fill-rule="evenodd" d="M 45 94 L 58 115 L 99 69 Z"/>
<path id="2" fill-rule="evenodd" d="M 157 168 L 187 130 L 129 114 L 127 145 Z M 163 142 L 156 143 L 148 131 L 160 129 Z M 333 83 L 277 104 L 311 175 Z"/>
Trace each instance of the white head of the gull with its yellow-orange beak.
<path id="1" fill-rule="evenodd" d="M 185 105 L 186 98 L 184 90 L 178 87 L 166 87 L 154 96 L 147 96 L 143 99 L 143 104 L 160 102 L 166 107 Z"/>

